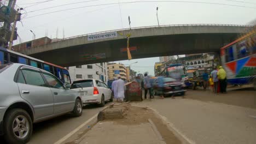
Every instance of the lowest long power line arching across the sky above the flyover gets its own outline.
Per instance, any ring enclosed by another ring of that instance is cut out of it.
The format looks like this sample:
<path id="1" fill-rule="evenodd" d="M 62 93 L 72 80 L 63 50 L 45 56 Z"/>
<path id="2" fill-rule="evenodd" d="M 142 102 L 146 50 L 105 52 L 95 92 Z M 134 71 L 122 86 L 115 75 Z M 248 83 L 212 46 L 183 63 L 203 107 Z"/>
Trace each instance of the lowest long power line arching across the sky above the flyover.
<path id="1" fill-rule="evenodd" d="M 100 1 L 100 0 L 92 0 L 92 1 Z M 241 8 L 251 8 L 251 9 L 256 9 L 256 7 L 247 7 L 247 6 L 242 6 L 242 5 L 233 5 L 233 4 L 224 4 L 224 3 L 211 3 L 211 2 L 193 2 L 193 1 L 136 1 L 136 2 L 120 2 L 120 4 L 127 4 L 127 3 L 152 3 L 152 2 L 173 2 L 173 3 L 201 3 L 201 4 L 214 4 L 214 5 L 227 5 L 231 7 L 241 7 Z M 83 7 L 76 7 L 76 8 L 69 8 L 69 9 L 63 9 L 63 10 L 56 10 L 56 11 L 51 11 L 49 13 L 43 13 L 43 14 L 38 14 L 30 17 L 26 17 L 25 19 L 29 19 L 31 17 L 36 17 L 40 15 L 46 15 L 46 14 L 52 14 L 52 13 L 57 13 L 60 11 L 66 11 L 66 10 L 72 10 L 72 9 L 80 9 L 80 8 L 88 8 L 88 7 L 97 7 L 97 6 L 102 6 L 102 5 L 113 5 L 113 4 L 119 4 L 119 3 L 106 3 L 106 4 L 96 4 L 96 5 L 87 5 Z M 57 6 L 55 6 L 57 7 Z"/>

